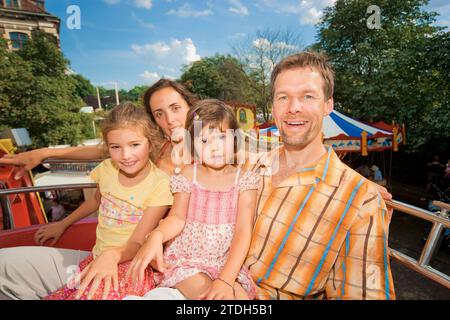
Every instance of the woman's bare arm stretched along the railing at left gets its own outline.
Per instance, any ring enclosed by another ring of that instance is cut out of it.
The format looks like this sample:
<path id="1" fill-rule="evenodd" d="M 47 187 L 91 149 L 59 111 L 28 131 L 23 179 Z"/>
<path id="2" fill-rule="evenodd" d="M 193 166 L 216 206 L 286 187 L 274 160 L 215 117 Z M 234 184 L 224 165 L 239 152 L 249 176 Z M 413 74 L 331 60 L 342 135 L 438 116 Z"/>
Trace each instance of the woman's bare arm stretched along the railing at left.
<path id="1" fill-rule="evenodd" d="M 6 155 L 0 158 L 0 165 L 13 165 L 20 167 L 14 178 L 22 178 L 28 170 L 33 169 L 47 158 L 89 160 L 105 158 L 106 154 L 102 146 L 82 146 L 67 148 L 42 148 Z"/>

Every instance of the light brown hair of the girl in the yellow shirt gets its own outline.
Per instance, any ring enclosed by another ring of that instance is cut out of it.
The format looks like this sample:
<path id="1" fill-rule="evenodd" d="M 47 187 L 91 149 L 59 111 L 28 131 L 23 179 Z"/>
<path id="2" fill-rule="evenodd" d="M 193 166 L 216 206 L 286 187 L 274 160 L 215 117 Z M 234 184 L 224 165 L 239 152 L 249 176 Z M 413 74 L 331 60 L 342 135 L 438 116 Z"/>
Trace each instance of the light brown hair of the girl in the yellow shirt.
<path id="1" fill-rule="evenodd" d="M 106 149 L 108 133 L 117 129 L 131 129 L 142 132 L 150 144 L 150 159 L 155 160 L 161 149 L 163 136 L 150 120 L 144 108 L 137 107 L 131 102 L 125 102 L 116 106 L 107 114 L 101 123 L 102 138 Z"/>

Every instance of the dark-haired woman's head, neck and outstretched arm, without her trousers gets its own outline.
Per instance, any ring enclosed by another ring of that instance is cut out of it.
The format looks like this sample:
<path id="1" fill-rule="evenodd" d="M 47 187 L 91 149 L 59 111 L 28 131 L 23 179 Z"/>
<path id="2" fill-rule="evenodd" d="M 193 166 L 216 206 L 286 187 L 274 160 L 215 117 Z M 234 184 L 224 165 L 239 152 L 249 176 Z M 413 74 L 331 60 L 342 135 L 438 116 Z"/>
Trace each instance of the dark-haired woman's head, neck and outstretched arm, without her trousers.
<path id="1" fill-rule="evenodd" d="M 173 153 L 174 146 L 183 138 L 184 123 L 189 108 L 197 101 L 194 94 L 178 82 L 161 79 L 144 94 L 145 110 L 167 139 L 161 150 L 153 154 L 155 164 L 167 174 L 172 174 L 185 161 L 183 154 Z M 172 156 L 173 153 L 173 156 Z M 33 169 L 47 158 L 88 160 L 104 158 L 101 146 L 69 148 L 42 148 L 0 158 L 0 164 L 18 166 L 15 179 Z M 178 170 L 177 170 L 178 171 Z"/>

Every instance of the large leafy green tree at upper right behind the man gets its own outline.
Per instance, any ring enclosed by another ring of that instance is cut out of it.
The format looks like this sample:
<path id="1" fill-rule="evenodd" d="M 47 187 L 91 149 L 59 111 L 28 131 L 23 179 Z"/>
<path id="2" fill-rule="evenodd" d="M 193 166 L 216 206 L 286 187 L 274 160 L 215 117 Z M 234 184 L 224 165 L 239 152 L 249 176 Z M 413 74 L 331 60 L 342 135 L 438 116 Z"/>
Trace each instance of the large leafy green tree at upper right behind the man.
<path id="1" fill-rule="evenodd" d="M 335 102 L 365 120 L 405 123 L 409 150 L 450 137 L 449 33 L 425 0 L 338 0 L 324 11 L 318 43 L 336 71 Z M 381 9 L 381 28 L 367 8 Z"/>

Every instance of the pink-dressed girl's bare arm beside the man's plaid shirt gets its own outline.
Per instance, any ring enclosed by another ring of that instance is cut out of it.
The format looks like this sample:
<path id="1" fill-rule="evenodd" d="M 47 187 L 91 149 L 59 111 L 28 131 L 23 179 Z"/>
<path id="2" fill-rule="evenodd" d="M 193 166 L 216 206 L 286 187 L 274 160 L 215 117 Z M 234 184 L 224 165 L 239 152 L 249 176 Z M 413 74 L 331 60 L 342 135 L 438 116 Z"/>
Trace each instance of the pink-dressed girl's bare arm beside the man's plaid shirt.
<path id="1" fill-rule="evenodd" d="M 250 247 L 253 216 L 256 210 L 257 190 L 246 190 L 239 195 L 238 216 L 231 242 L 228 260 L 218 280 L 213 281 L 209 290 L 199 299 L 234 299 L 234 282 L 244 264 Z"/>

